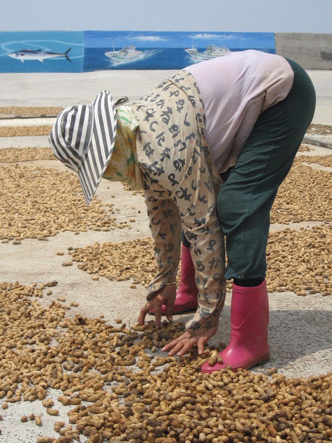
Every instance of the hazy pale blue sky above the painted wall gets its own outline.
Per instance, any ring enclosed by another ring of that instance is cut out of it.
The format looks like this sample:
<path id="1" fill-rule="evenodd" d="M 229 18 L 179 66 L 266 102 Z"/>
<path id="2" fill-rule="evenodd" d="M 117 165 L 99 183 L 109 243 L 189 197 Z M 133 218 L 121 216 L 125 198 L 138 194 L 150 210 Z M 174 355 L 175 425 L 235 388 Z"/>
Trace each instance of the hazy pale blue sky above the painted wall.
<path id="1" fill-rule="evenodd" d="M 0 31 L 332 32 L 331 0 L 3 0 Z"/>

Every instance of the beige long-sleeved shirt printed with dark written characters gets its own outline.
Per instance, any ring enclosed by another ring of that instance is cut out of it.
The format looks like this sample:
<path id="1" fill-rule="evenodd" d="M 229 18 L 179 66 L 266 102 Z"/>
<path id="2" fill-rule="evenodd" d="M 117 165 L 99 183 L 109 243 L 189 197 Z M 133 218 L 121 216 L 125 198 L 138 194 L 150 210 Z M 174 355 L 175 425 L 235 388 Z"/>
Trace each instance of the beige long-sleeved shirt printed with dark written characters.
<path id="1" fill-rule="evenodd" d="M 204 140 L 203 102 L 194 77 L 180 71 L 131 108 L 139 125 L 137 160 L 158 264 L 148 299 L 176 272 L 182 228 L 199 290 L 198 309 L 186 330 L 198 334 L 218 323 L 226 293 L 224 236 L 216 211 L 221 179 Z"/>

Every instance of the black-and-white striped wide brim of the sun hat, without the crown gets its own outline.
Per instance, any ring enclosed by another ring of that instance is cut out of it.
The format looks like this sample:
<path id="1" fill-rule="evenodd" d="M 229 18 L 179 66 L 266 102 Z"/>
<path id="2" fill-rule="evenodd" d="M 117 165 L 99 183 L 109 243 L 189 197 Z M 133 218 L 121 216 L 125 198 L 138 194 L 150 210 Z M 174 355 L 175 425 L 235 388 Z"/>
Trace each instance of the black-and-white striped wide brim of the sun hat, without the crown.
<path id="1" fill-rule="evenodd" d="M 92 138 L 78 171 L 87 206 L 111 159 L 116 136 L 116 109 L 112 95 L 108 91 L 100 92 L 89 107 L 93 112 Z"/>

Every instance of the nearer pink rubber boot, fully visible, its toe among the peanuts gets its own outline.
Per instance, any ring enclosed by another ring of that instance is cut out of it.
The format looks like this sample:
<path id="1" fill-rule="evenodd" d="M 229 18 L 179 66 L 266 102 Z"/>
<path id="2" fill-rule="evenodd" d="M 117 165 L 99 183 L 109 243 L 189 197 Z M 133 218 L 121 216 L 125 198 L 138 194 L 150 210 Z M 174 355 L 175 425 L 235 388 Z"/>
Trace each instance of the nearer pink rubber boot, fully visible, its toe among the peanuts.
<path id="1" fill-rule="evenodd" d="M 254 288 L 243 288 L 233 283 L 231 304 L 231 339 L 219 353 L 223 363 L 213 366 L 206 361 L 201 372 L 211 374 L 226 366 L 233 371 L 264 365 L 269 360 L 267 344 L 268 296 L 265 280 Z"/>

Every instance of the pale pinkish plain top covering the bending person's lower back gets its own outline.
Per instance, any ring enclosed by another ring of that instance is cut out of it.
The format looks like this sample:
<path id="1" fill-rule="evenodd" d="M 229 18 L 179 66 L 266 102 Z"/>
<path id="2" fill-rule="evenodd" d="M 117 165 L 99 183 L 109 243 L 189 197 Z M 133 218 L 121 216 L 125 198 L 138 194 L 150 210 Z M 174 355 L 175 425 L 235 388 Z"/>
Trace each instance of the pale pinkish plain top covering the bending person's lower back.
<path id="1" fill-rule="evenodd" d="M 206 142 L 219 172 L 234 166 L 259 114 L 283 100 L 294 73 L 285 58 L 232 52 L 184 68 L 195 78 L 206 114 Z"/>

